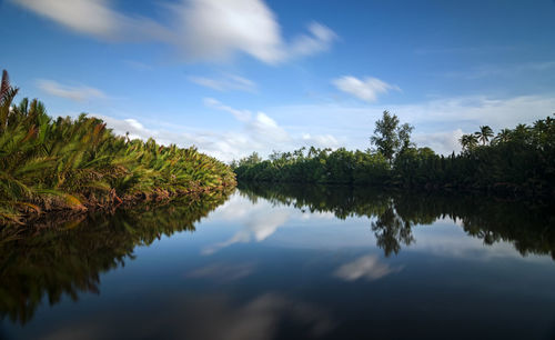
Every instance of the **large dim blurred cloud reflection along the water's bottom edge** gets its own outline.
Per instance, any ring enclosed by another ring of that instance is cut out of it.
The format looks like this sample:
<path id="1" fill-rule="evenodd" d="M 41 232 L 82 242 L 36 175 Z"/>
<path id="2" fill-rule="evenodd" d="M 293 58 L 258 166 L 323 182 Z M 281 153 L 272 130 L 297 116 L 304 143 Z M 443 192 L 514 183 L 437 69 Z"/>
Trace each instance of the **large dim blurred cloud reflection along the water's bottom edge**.
<path id="1" fill-rule="evenodd" d="M 143 297 L 149 308 L 112 311 L 47 332 L 41 339 L 274 339 L 292 323 L 300 338 L 320 338 L 334 327 L 330 313 L 315 304 L 275 293 L 234 303 L 229 297 Z M 153 304 L 149 304 L 153 303 Z M 162 303 L 162 304 L 161 304 Z M 152 318 L 155 311 L 157 318 Z M 140 326 L 140 327 L 138 327 Z"/>

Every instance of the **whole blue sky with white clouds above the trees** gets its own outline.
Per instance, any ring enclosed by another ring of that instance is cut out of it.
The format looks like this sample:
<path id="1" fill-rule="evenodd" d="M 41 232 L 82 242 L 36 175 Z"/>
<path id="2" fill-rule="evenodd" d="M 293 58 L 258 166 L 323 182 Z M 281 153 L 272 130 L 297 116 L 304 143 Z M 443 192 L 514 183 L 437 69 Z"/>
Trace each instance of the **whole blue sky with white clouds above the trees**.
<path id="1" fill-rule="evenodd" d="M 19 99 L 223 161 L 365 150 L 384 110 L 444 154 L 555 112 L 555 0 L 0 0 L 0 34 Z"/>

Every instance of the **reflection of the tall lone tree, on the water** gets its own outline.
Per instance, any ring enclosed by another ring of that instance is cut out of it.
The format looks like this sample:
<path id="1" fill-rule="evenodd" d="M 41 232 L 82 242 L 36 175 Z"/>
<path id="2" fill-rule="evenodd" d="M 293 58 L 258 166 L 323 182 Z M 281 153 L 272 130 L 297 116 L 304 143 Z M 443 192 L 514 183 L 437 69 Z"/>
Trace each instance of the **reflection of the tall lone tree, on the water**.
<path id="1" fill-rule="evenodd" d="M 393 207 L 372 222 L 372 231 L 376 236 L 377 247 L 383 249 L 386 257 L 392 252 L 397 254 L 401 244 L 410 246 L 414 241 L 411 223 L 401 219 Z"/>

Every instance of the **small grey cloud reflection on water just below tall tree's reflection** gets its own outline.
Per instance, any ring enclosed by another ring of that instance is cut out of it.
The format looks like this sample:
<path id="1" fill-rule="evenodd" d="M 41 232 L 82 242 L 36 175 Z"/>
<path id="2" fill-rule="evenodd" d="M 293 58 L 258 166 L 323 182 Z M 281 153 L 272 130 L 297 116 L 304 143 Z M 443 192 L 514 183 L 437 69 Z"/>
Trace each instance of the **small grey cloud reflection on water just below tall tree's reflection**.
<path id="1" fill-rule="evenodd" d="M 376 256 L 364 256 L 341 266 L 334 274 L 345 281 L 355 281 L 359 279 L 374 281 L 390 273 L 398 272 L 401 269 L 390 268 L 389 264 L 381 263 Z"/>

